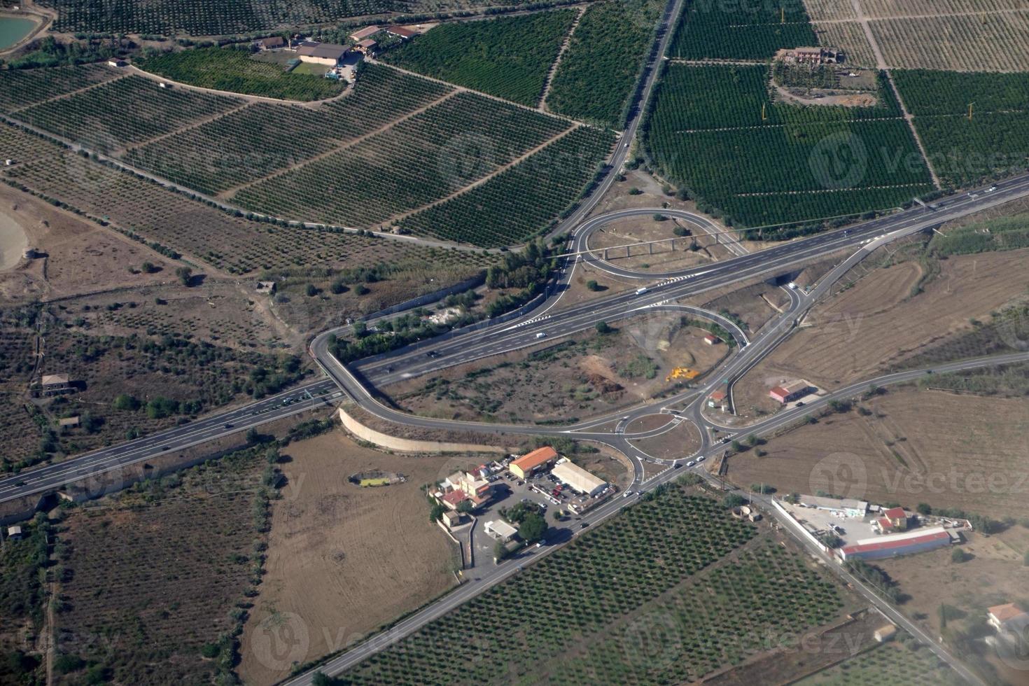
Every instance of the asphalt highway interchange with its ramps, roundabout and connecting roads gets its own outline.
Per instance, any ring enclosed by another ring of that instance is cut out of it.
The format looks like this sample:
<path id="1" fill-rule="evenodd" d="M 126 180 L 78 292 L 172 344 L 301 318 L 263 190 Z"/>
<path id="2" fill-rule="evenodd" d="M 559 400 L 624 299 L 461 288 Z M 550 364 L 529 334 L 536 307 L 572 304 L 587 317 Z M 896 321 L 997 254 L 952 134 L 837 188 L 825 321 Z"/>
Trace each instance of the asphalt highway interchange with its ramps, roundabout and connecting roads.
<path id="1" fill-rule="evenodd" d="M 710 233 L 712 230 L 717 230 L 710 220 L 703 216 L 660 208 L 622 210 L 599 216 L 590 216 L 600 198 L 614 183 L 616 178 L 614 172 L 624 165 L 626 156 L 629 154 L 631 143 L 640 125 L 641 113 L 645 111 L 646 104 L 649 102 L 655 86 L 658 63 L 667 51 L 672 33 L 670 27 L 674 26 L 676 19 L 682 11 L 683 3 L 684 0 L 673 2 L 661 20 L 657 49 L 644 69 L 644 80 L 639 91 L 638 101 L 611 155 L 607 173 L 591 195 L 584 198 L 576 210 L 552 232 L 552 236 L 568 233 L 570 237 L 568 250 L 574 255 L 562 262 L 560 273 L 556 274 L 553 280 L 554 285 L 548 296 L 527 317 L 521 321 L 491 322 L 482 326 L 469 327 L 468 330 L 464 331 L 457 330 L 388 355 L 360 360 L 352 365 L 344 365 L 336 360 L 331 355 L 328 345 L 330 334 L 347 335 L 351 332 L 350 327 L 324 331 L 311 341 L 309 351 L 326 377 L 253 403 L 212 413 L 180 427 L 83 454 L 63 463 L 25 470 L 17 475 L 0 479 L 0 502 L 49 493 L 82 479 L 102 484 L 109 483 L 110 485 L 103 486 L 105 490 L 115 489 L 120 482 L 119 470 L 123 470 L 130 465 L 172 455 L 176 450 L 243 432 L 252 427 L 298 412 L 327 408 L 339 404 L 344 399 L 353 400 L 365 411 L 383 420 L 406 426 L 452 429 L 484 435 L 497 433 L 526 436 L 562 435 L 578 440 L 604 443 L 623 452 L 632 462 L 633 482 L 631 489 L 651 490 L 688 471 L 688 467 L 682 468 L 682 464 L 687 460 L 707 459 L 724 450 L 721 442 L 715 441 L 715 432 L 720 434 L 718 439 L 720 441 L 731 439 L 736 432 L 741 430 L 721 426 L 716 420 L 704 416 L 703 402 L 707 394 L 721 384 L 726 384 L 732 391 L 736 380 L 743 376 L 788 337 L 800 318 L 817 301 L 827 296 L 838 280 L 855 264 L 892 241 L 925 231 L 952 219 L 1029 195 L 1029 175 L 1023 175 L 999 182 L 990 188 L 942 198 L 935 202 L 931 208 L 914 207 L 846 228 L 782 243 L 766 250 L 748 253 L 742 248 L 731 248 L 734 256 L 688 269 L 644 273 L 617 267 L 604 261 L 601 258 L 602 250 L 591 251 L 590 237 L 605 224 L 617 219 L 662 213 L 689 222 L 705 232 Z M 733 321 L 717 313 L 678 302 L 686 296 L 746 280 L 773 278 L 780 281 L 788 280 L 788 278 L 783 278 L 800 270 L 812 260 L 838 254 L 846 254 L 846 257 L 842 258 L 810 291 L 786 289 L 789 295 L 789 304 L 786 311 L 775 321 L 749 335 Z M 623 292 L 564 306 L 567 304 L 564 302 L 564 295 L 568 292 L 575 270 L 581 264 L 590 264 L 591 267 L 602 269 L 614 277 L 634 280 L 637 285 L 645 285 L 646 290 L 640 293 L 634 285 Z M 417 377 L 448 366 L 532 346 L 559 341 L 563 337 L 595 327 L 599 321 L 616 322 L 628 317 L 651 313 L 681 313 L 693 318 L 715 322 L 726 329 L 736 339 L 736 352 L 717 370 L 706 376 L 698 388 L 685 390 L 660 401 L 641 403 L 628 410 L 623 409 L 606 417 L 593 418 L 590 421 L 565 427 L 483 424 L 413 417 L 387 407 L 378 399 L 378 388 L 401 380 Z M 382 317 L 371 317 L 367 323 L 374 327 L 381 319 Z M 901 371 L 865 380 L 812 399 L 803 407 L 779 412 L 747 427 L 745 432 L 757 436 L 774 434 L 793 423 L 804 421 L 813 412 L 821 411 L 832 400 L 859 395 L 870 384 L 887 386 L 916 381 L 927 373 L 960 371 L 1026 360 L 1029 360 L 1029 353 L 1015 353 L 958 361 L 938 365 L 932 369 Z M 681 405 L 682 408 L 675 410 L 674 413 L 669 410 L 669 408 L 678 405 Z M 630 426 L 635 419 L 654 413 L 668 414 L 669 423 L 646 432 L 625 433 L 625 428 Z M 654 459 L 633 443 L 634 439 L 660 435 L 661 432 L 669 430 L 682 421 L 695 423 L 701 433 L 701 446 L 693 456 L 683 456 L 677 460 Z M 613 429 L 610 428 L 612 424 L 614 425 Z M 644 480 L 644 465 L 646 463 L 662 465 L 667 469 L 661 471 L 657 476 Z M 707 477 L 705 472 L 696 468 L 695 470 Z M 588 525 L 595 525 L 615 514 L 631 503 L 632 499 L 614 498 L 587 514 L 583 521 Z M 768 504 L 767 499 L 765 504 Z M 784 522 L 784 525 L 786 523 Z M 802 543 L 808 545 L 804 540 Z M 473 595 L 500 583 L 511 574 L 517 574 L 524 565 L 535 562 L 548 554 L 553 549 L 551 546 L 532 548 L 509 564 L 476 567 L 477 577 L 466 581 L 437 602 L 404 618 L 388 631 L 331 658 L 320 665 L 319 671 L 330 675 L 344 673 L 390 643 L 441 616 Z M 812 553 L 821 554 L 817 549 L 812 550 Z M 829 568 L 845 575 L 842 568 L 835 563 L 829 563 Z M 863 588 L 860 584 L 855 585 Z M 885 613 L 890 614 L 891 617 L 897 614 L 882 599 L 871 597 L 870 602 L 880 607 Z M 942 659 L 946 659 L 955 666 L 966 679 L 977 681 L 973 675 L 968 674 L 959 661 L 933 643 L 931 638 L 922 635 L 915 626 L 910 627 L 911 622 L 907 622 L 902 617 L 894 619 L 894 621 L 897 621 L 923 642 L 928 643 Z M 287 683 L 310 684 L 313 675 L 313 671 L 308 672 Z"/>

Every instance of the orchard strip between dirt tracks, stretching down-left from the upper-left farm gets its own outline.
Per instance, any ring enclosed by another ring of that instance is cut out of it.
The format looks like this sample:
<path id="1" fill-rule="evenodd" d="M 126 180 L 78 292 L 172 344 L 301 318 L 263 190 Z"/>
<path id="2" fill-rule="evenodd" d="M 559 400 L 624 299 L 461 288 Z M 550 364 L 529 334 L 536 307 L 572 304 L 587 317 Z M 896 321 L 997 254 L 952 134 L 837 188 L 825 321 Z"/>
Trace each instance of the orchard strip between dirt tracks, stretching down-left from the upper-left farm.
<path id="1" fill-rule="evenodd" d="M 232 194 L 348 145 L 449 93 L 439 83 L 366 65 L 353 93 L 339 101 L 315 108 L 257 103 L 133 148 L 126 160 L 202 192 Z"/>

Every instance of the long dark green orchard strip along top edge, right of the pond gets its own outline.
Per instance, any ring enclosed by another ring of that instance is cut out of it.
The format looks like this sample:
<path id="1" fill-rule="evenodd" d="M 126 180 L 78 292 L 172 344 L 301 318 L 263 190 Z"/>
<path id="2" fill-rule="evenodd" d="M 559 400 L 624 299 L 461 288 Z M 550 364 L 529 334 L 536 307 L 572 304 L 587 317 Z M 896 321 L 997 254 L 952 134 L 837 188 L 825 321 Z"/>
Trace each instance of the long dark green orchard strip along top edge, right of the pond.
<path id="1" fill-rule="evenodd" d="M 519 5 L 524 0 L 504 4 Z M 492 5 L 485 0 L 311 0 L 283 4 L 275 0 L 44 0 L 58 11 L 56 30 L 86 33 L 146 33 L 216 36 L 280 27 L 339 22 L 351 16 L 456 10 Z"/>

